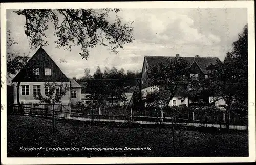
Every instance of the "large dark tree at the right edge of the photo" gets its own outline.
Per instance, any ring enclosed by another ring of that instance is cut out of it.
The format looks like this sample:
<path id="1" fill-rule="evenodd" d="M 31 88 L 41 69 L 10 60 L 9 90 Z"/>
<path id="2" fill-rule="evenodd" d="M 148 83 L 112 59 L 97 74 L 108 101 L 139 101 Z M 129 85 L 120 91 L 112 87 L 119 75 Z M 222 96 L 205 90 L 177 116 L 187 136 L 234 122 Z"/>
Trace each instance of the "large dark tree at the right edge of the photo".
<path id="1" fill-rule="evenodd" d="M 233 42 L 224 62 L 210 65 L 211 77 L 194 86 L 194 90 L 213 93 L 214 101 L 223 99 L 226 102 L 226 129 L 229 133 L 231 106 L 239 103 L 248 104 L 248 36 L 247 25 Z M 244 106 L 248 111 L 248 106 Z"/>

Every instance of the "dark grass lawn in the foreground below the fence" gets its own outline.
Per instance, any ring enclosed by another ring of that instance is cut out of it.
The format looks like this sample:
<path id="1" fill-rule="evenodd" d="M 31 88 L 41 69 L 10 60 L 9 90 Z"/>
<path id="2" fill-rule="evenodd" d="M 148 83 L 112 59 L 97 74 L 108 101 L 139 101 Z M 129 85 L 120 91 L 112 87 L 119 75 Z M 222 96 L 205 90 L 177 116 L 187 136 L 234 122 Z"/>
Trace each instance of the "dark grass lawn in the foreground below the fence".
<path id="1" fill-rule="evenodd" d="M 132 156 L 172 157 L 172 129 L 150 127 L 110 127 L 91 125 L 82 121 L 56 121 L 56 134 L 52 133 L 52 121 L 29 116 L 7 116 L 7 156 Z M 177 135 L 179 130 L 176 130 Z M 210 134 L 185 130 L 177 136 L 176 156 L 248 156 L 248 134 Z M 20 148 L 45 148 L 22 151 Z M 51 148 L 70 148 L 66 151 L 49 151 Z M 79 148 L 72 151 L 72 147 Z M 82 151 L 87 148 L 144 148 L 141 151 Z M 47 148 L 47 149 L 46 149 Z"/>

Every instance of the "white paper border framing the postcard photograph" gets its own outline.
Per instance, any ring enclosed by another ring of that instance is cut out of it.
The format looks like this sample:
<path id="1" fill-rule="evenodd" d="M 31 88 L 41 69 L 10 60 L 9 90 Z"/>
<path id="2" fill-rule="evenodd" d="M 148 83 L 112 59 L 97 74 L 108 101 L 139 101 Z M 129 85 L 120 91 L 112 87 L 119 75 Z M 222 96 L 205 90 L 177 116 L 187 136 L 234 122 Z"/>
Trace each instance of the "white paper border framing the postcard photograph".
<path id="1" fill-rule="evenodd" d="M 249 68 L 249 157 L 123 157 L 123 158 L 6 158 L 6 109 L 1 110 L 2 164 L 101 164 L 109 163 L 196 163 L 196 162 L 254 162 L 255 161 L 255 32 L 254 1 L 188 1 L 185 2 L 56 2 L 1 4 L 1 76 L 6 83 L 6 9 L 22 8 L 247 8 L 248 68 Z M 1 90 L 1 104 L 6 107 L 6 84 Z"/>

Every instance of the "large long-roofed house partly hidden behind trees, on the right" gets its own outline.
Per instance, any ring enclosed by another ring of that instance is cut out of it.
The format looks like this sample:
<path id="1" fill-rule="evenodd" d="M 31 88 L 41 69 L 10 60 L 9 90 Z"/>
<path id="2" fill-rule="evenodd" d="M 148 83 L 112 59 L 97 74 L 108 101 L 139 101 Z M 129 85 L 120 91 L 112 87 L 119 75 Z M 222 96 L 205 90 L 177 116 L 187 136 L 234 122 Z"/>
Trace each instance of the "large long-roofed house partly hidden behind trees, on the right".
<path id="1" fill-rule="evenodd" d="M 166 63 L 167 59 L 175 59 L 175 58 L 181 58 L 185 59 L 188 62 L 189 66 L 189 72 L 184 75 L 187 80 L 189 81 L 197 81 L 199 78 L 209 78 L 210 72 L 206 68 L 213 64 L 215 65 L 220 59 L 218 57 L 201 57 L 201 56 L 195 56 L 195 57 L 180 57 L 179 54 L 176 54 L 176 56 L 145 56 L 144 62 L 142 66 L 142 77 L 141 77 L 141 89 L 144 93 L 144 97 L 147 95 L 147 93 L 153 92 L 154 90 L 167 90 L 165 86 L 153 86 L 153 80 L 148 78 L 148 68 L 151 66 L 157 65 L 159 62 Z M 212 97 L 203 98 L 204 103 L 212 102 Z M 183 93 L 181 90 L 177 90 L 175 96 L 173 99 L 169 102 L 169 106 L 179 106 L 179 105 L 186 105 L 190 106 L 193 104 L 199 103 L 198 98 L 191 98 L 189 96 L 186 96 L 185 93 Z M 215 102 L 216 106 L 220 106 L 225 104 L 223 100 L 219 100 L 218 102 Z"/>

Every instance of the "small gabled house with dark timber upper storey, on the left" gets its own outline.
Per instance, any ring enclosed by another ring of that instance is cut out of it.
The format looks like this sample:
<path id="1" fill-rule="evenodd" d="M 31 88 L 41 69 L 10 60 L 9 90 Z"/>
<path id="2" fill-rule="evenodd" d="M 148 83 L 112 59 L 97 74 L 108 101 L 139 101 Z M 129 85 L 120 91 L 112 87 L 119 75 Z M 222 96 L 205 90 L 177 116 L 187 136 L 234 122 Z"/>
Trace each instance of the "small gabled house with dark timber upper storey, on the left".
<path id="1" fill-rule="evenodd" d="M 33 70 L 33 72 L 31 72 Z M 70 87 L 70 79 L 61 71 L 43 48 L 39 48 L 28 60 L 22 70 L 12 79 L 14 83 L 14 101 L 17 101 L 17 86 L 20 102 L 38 103 L 33 95 L 45 95 L 45 82 L 56 82 L 57 85 L 67 84 Z M 56 90 L 60 90 L 59 88 Z M 71 92 L 67 92 L 62 98 L 62 103 L 71 103 Z"/>

